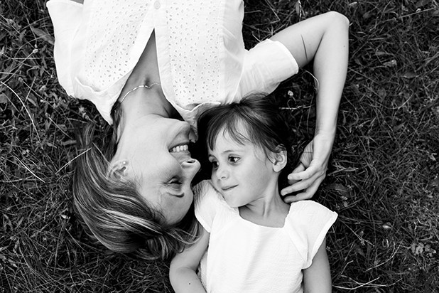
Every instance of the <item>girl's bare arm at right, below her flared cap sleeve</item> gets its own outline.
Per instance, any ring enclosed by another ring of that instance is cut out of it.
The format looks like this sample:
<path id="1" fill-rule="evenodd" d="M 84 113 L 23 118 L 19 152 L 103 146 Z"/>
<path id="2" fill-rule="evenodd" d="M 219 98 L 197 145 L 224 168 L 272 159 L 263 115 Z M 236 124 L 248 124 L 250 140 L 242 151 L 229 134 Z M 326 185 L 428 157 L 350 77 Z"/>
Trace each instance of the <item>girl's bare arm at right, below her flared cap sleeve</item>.
<path id="1" fill-rule="evenodd" d="M 303 270 L 303 289 L 305 293 L 332 292 L 331 271 L 326 254 L 326 240 L 313 258 L 313 264 Z"/>

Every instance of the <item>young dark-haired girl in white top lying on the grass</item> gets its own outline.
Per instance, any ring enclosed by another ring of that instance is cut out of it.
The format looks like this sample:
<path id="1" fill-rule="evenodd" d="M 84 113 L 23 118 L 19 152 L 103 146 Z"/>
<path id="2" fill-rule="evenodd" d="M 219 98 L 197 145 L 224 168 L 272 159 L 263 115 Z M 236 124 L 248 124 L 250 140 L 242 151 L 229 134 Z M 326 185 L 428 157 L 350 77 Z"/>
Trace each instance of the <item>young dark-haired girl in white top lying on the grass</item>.
<path id="1" fill-rule="evenodd" d="M 291 132 L 278 109 L 249 97 L 199 121 L 212 180 L 197 186 L 201 236 L 170 265 L 175 292 L 331 292 L 325 235 L 337 213 L 279 195 Z M 207 246 L 204 288 L 195 271 Z"/>

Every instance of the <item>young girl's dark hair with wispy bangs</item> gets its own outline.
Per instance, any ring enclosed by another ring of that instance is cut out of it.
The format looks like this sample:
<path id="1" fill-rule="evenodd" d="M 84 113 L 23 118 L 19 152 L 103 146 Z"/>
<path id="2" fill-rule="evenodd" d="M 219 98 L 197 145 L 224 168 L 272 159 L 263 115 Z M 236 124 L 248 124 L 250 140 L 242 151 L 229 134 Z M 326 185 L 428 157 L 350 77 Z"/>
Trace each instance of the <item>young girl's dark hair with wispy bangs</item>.
<path id="1" fill-rule="evenodd" d="M 273 95 L 254 94 L 244 97 L 241 102 L 211 108 L 203 112 L 198 121 L 200 157 L 202 166 L 207 163 L 207 148 L 214 149 L 219 134 L 227 133 L 239 144 L 250 142 L 268 151 L 278 152 L 278 146 L 286 149 L 288 164 L 279 176 L 279 188 L 288 185 L 288 174 L 293 170 L 293 163 L 297 160 L 291 148 L 293 133 L 291 132 L 289 116 L 285 115 L 276 105 Z M 291 119 L 290 119 L 291 120 Z M 244 132 L 240 129 L 244 127 Z M 210 173 L 210 169 L 203 170 Z"/>

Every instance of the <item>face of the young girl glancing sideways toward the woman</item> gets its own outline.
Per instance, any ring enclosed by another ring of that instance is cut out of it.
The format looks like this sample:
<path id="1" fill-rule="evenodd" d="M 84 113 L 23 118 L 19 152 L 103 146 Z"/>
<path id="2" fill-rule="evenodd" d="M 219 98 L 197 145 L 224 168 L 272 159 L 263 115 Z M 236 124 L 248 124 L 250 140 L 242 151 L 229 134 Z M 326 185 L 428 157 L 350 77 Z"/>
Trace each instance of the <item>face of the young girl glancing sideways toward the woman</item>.
<path id="1" fill-rule="evenodd" d="M 239 144 L 229 134 L 220 132 L 208 158 L 212 163 L 212 183 L 232 208 L 263 200 L 273 192 L 276 172 L 260 147 L 249 142 Z"/>

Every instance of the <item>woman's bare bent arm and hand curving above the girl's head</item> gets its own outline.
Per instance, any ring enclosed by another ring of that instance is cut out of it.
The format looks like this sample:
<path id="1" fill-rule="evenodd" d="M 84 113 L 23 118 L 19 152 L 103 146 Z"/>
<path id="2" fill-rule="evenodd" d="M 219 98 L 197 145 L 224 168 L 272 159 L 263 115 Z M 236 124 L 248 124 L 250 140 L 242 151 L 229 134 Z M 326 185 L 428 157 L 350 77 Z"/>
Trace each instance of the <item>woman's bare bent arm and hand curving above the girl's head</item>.
<path id="1" fill-rule="evenodd" d="M 314 59 L 317 92 L 315 135 L 307 150 L 312 156 L 301 158 L 302 164 L 288 176 L 291 186 L 281 193 L 287 202 L 311 198 L 325 179 L 327 162 L 335 139 L 337 114 L 345 85 L 348 60 L 349 21 L 337 12 L 328 12 L 290 26 L 271 40 L 280 41 L 303 67 Z"/>

